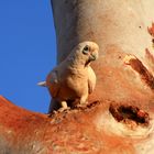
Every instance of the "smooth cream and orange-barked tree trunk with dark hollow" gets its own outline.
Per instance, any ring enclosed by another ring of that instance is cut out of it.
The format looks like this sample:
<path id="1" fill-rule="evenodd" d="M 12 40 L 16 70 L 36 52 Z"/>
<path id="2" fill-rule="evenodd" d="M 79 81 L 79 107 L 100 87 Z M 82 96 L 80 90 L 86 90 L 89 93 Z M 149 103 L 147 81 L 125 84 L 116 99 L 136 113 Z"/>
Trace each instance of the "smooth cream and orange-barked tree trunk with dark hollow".
<path id="1" fill-rule="evenodd" d="M 154 1 L 52 0 L 57 63 L 82 41 L 100 46 L 86 108 L 52 116 L 0 98 L 0 152 L 154 153 Z M 147 29 L 148 26 L 148 29 Z"/>

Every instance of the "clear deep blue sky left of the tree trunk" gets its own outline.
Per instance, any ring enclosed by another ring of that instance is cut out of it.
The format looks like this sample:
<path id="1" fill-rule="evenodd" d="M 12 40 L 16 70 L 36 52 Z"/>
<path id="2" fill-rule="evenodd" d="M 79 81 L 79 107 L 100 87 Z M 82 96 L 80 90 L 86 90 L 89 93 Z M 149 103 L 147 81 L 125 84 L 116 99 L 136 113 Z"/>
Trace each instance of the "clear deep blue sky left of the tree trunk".
<path id="1" fill-rule="evenodd" d="M 46 112 L 50 95 L 36 84 L 56 64 L 50 0 L 0 0 L 0 95 Z"/>

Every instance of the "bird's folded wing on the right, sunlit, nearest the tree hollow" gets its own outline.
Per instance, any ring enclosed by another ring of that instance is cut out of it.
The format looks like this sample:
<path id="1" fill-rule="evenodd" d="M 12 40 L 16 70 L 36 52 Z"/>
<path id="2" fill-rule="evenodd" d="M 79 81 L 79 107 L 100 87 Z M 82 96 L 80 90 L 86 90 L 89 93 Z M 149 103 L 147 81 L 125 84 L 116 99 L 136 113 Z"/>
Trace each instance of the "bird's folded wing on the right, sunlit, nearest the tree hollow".
<path id="1" fill-rule="evenodd" d="M 88 68 L 88 91 L 91 94 L 96 87 L 96 74 L 92 68 Z"/>

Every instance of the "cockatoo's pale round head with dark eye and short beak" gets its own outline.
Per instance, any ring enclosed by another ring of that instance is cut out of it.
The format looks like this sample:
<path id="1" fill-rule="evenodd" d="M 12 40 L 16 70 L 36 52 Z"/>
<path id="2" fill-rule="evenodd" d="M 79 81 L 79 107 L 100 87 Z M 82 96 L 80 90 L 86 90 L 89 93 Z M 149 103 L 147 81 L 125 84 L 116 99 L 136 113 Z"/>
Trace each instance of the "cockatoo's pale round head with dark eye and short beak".
<path id="1" fill-rule="evenodd" d="M 76 51 L 80 61 L 87 66 L 98 58 L 99 46 L 95 42 L 87 41 L 79 43 Z"/>

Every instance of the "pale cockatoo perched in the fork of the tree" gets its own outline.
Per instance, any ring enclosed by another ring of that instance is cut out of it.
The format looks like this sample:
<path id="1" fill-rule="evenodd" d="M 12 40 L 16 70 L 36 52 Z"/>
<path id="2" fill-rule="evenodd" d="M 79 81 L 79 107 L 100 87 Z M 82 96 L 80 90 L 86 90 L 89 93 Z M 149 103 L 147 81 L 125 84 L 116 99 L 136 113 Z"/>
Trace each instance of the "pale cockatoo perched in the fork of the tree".
<path id="1" fill-rule="evenodd" d="M 46 77 L 38 82 L 47 87 L 52 101 L 48 112 L 68 108 L 68 102 L 78 100 L 78 105 L 87 103 L 88 95 L 96 87 L 96 74 L 90 67 L 98 58 L 99 46 L 91 41 L 77 44 L 68 56 L 59 63 Z"/>

